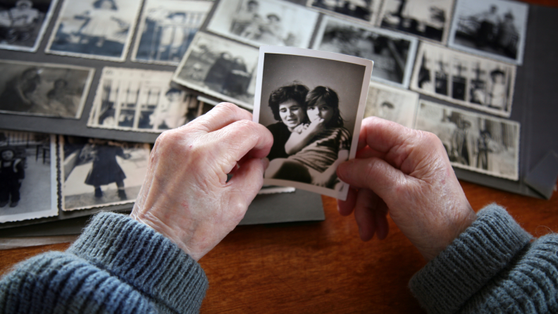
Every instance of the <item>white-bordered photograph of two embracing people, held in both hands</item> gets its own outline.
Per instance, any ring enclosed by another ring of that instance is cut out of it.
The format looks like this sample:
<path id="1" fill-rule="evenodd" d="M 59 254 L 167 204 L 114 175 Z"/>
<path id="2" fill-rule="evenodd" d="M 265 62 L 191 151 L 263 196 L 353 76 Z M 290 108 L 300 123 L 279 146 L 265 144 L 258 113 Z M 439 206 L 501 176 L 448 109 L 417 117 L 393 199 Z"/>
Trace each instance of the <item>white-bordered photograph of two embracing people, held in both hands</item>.
<path id="1" fill-rule="evenodd" d="M 273 134 L 263 183 L 345 200 L 337 165 L 354 158 L 373 62 L 262 46 L 254 122 Z"/>

